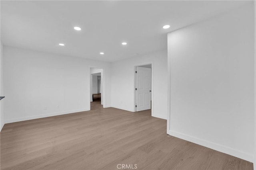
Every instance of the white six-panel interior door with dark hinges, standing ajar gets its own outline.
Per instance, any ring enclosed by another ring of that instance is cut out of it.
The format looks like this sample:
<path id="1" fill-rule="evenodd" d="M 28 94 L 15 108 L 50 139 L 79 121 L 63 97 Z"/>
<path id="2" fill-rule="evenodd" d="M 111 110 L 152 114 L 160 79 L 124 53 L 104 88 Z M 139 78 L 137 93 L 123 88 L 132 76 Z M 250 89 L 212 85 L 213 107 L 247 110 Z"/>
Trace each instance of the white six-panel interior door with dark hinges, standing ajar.
<path id="1" fill-rule="evenodd" d="M 136 67 L 136 111 L 151 109 L 151 68 Z"/>

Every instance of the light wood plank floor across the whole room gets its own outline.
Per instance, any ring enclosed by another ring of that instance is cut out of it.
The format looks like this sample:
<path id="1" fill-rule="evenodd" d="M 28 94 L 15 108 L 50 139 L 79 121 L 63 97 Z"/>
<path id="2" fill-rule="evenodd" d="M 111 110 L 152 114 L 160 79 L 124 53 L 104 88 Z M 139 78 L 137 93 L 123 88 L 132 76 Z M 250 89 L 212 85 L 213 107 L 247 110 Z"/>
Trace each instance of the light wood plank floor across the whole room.
<path id="1" fill-rule="evenodd" d="M 250 162 L 166 135 L 166 120 L 103 109 L 4 125 L 1 170 L 252 170 Z"/>

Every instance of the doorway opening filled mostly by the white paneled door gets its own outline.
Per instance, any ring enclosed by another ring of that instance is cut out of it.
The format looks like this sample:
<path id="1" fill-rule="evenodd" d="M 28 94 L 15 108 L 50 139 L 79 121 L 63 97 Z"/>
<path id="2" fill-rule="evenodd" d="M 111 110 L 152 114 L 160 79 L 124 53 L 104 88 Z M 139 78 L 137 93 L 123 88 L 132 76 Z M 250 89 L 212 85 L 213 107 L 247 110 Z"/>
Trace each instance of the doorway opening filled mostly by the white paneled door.
<path id="1" fill-rule="evenodd" d="M 134 100 L 135 111 L 144 111 L 151 109 L 153 111 L 152 95 L 152 64 L 135 66 L 134 78 Z"/>

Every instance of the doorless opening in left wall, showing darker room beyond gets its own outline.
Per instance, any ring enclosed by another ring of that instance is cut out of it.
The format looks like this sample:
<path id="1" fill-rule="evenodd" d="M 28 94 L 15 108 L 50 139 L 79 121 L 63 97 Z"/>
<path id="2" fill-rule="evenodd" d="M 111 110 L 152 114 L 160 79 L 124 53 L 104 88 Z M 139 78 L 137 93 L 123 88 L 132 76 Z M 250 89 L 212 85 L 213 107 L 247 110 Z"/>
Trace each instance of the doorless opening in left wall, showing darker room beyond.
<path id="1" fill-rule="evenodd" d="M 103 105 L 102 68 L 90 68 L 90 110 Z"/>

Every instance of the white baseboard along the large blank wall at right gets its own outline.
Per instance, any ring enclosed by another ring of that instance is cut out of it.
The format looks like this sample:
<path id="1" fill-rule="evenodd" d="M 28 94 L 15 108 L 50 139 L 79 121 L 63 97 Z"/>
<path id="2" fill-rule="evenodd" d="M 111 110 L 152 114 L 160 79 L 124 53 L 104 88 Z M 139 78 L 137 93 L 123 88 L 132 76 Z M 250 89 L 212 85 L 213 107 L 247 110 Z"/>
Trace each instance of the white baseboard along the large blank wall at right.
<path id="1" fill-rule="evenodd" d="M 202 146 L 210 148 L 210 149 L 217 150 L 219 152 L 230 154 L 232 156 L 247 160 L 249 162 L 255 162 L 254 158 L 253 158 L 254 157 L 253 154 L 248 154 L 248 153 L 242 152 L 240 150 L 236 150 L 236 149 L 233 149 L 233 148 L 230 148 L 230 147 L 226 147 L 224 145 L 219 145 L 217 143 L 213 143 L 213 142 L 210 142 L 210 141 L 205 141 L 203 139 L 199 139 L 199 138 L 192 137 L 190 135 L 186 135 L 186 134 L 175 132 L 175 131 L 167 130 L 167 134 L 169 134 L 171 136 L 174 136 L 174 137 L 178 137 L 180 139 L 184 139 L 186 141 L 190 141 L 192 143 L 196 143 L 198 145 L 202 145 Z"/>

